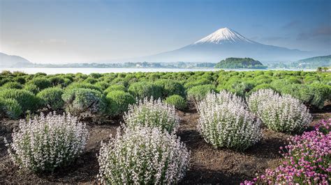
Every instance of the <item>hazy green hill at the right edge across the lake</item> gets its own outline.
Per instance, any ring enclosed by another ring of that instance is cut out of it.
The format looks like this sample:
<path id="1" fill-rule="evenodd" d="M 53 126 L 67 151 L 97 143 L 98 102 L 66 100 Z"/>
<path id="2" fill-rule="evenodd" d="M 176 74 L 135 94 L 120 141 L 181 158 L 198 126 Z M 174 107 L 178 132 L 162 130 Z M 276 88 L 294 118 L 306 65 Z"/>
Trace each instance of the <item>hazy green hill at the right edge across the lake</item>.
<path id="1" fill-rule="evenodd" d="M 302 68 L 331 67 L 331 55 L 305 58 L 295 62 L 295 64 Z"/>

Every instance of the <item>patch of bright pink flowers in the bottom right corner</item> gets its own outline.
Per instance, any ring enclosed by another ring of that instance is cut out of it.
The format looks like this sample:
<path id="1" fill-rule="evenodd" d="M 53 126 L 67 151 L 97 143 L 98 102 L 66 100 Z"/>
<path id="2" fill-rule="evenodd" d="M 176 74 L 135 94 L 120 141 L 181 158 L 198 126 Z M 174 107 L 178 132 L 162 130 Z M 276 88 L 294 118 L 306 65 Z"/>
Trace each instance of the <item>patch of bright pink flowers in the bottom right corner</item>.
<path id="1" fill-rule="evenodd" d="M 316 124 L 314 131 L 291 136 L 280 147 L 284 159 L 274 170 L 265 170 L 242 184 L 328 184 L 331 181 L 331 118 Z"/>

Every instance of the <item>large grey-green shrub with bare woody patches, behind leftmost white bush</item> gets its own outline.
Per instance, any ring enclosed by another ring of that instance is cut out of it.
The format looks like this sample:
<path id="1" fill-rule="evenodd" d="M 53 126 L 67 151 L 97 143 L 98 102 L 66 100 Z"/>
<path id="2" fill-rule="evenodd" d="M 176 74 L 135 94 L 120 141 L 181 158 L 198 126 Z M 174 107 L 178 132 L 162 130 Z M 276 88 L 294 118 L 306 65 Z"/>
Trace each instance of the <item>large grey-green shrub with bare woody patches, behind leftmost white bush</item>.
<path id="1" fill-rule="evenodd" d="M 94 89 L 74 88 L 64 91 L 66 112 L 78 118 L 101 118 L 106 115 L 105 96 Z"/>

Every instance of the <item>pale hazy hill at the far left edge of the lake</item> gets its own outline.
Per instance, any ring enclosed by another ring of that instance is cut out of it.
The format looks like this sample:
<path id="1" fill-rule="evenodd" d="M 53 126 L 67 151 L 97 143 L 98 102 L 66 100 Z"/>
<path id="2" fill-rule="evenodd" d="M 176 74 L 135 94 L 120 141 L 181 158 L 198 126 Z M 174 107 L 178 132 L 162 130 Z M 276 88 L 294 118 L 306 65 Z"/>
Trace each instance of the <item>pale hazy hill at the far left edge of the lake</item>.
<path id="1" fill-rule="evenodd" d="M 25 58 L 0 53 L 0 67 L 26 67 L 29 65 L 32 63 Z"/>

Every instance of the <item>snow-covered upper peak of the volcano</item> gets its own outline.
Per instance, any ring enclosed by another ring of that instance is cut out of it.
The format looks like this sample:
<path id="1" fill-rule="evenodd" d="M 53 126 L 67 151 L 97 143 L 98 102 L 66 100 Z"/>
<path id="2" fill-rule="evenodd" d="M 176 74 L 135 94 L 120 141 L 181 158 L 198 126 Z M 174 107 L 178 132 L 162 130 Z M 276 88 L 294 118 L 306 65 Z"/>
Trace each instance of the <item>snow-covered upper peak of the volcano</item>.
<path id="1" fill-rule="evenodd" d="M 233 43 L 233 42 L 253 43 L 253 41 L 245 38 L 236 31 L 233 31 L 232 29 L 228 29 L 228 28 L 223 28 L 215 31 L 210 35 L 207 35 L 207 37 L 205 38 L 202 38 L 194 42 L 194 45 L 202 44 L 202 43 L 223 44 L 223 43 Z"/>

